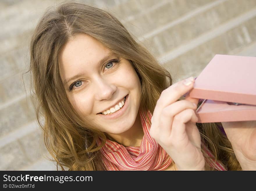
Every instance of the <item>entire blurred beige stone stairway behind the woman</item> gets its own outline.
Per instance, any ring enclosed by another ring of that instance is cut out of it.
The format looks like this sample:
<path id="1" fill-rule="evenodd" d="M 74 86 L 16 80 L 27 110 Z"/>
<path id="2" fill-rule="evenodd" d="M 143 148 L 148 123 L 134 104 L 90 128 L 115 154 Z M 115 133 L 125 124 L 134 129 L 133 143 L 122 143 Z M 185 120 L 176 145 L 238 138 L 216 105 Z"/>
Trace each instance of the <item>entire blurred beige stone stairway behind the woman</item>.
<path id="1" fill-rule="evenodd" d="M 0 0 L 0 170 L 56 170 L 36 123 L 29 75 L 24 88 L 22 73 L 33 29 L 46 8 L 60 2 Z M 174 82 L 198 76 L 215 54 L 256 56 L 256 0 L 81 2 L 120 19 Z"/>

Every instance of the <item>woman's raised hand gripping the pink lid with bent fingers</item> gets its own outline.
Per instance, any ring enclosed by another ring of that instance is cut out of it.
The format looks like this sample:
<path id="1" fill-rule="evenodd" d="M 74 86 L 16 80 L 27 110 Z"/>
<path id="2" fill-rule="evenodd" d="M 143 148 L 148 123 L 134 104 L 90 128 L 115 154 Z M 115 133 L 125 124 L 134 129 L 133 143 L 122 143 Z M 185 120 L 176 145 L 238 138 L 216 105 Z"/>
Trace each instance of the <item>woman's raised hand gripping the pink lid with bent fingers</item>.
<path id="1" fill-rule="evenodd" d="M 177 101 L 193 84 L 194 78 L 188 78 L 163 90 L 151 118 L 150 136 L 170 155 L 178 170 L 204 170 L 205 166 L 200 133 L 195 124 L 199 99 L 187 95 L 186 99 Z"/>

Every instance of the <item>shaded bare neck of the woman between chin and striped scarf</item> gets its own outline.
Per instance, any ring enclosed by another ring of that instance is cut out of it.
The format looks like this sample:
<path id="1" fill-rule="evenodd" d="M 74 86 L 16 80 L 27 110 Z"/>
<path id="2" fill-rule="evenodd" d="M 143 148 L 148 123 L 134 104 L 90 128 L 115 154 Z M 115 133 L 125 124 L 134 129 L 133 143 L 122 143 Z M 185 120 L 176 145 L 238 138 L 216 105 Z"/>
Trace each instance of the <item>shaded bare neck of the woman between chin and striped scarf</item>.
<path id="1" fill-rule="evenodd" d="M 139 112 L 133 126 L 129 130 L 121 134 L 107 134 L 107 138 L 109 140 L 122 144 L 125 147 L 140 147 L 143 136 L 144 132 L 141 126 L 141 118 Z"/>

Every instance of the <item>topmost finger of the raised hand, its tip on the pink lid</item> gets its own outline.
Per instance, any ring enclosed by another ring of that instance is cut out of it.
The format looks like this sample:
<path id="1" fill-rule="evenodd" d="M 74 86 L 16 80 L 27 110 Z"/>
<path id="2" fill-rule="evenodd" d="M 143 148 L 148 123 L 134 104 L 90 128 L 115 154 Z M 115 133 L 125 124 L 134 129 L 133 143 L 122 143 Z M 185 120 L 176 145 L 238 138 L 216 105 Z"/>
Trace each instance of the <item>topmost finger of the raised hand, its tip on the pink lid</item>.
<path id="1" fill-rule="evenodd" d="M 161 96 L 157 100 L 153 116 L 155 120 L 159 120 L 160 113 L 166 106 L 177 101 L 182 95 L 193 88 L 195 80 L 193 77 L 179 81 L 169 88 L 163 90 Z"/>

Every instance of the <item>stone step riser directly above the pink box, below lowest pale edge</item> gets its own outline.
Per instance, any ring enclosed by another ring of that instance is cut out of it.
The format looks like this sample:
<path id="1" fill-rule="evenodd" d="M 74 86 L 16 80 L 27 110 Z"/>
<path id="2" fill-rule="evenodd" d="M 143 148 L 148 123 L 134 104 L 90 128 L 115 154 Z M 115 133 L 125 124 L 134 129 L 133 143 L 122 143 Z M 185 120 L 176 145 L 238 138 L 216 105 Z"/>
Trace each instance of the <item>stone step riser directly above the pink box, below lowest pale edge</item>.
<path id="1" fill-rule="evenodd" d="M 256 10 L 254 13 L 256 13 Z M 213 36 L 213 38 L 203 41 L 202 44 L 198 43 L 193 47 L 193 43 L 191 43 L 189 44 L 191 49 L 176 54 L 176 56 L 171 56 L 171 58 L 168 58 L 169 61 L 163 62 L 163 66 L 173 74 L 175 81 L 180 81 L 189 76 L 198 76 L 215 54 L 256 56 L 256 49 L 254 52 L 251 49 L 250 54 L 246 53 L 246 51 L 242 52 L 243 49 L 251 45 L 255 47 L 256 27 L 251 27 L 255 26 L 255 24 L 256 15 L 244 21 L 239 26 L 230 28 L 230 30 L 220 35 Z M 248 36 L 250 38 L 248 38 Z M 248 51 L 249 50 L 247 50 L 247 52 Z M 171 55 L 171 53 L 169 53 L 169 55 Z"/>

